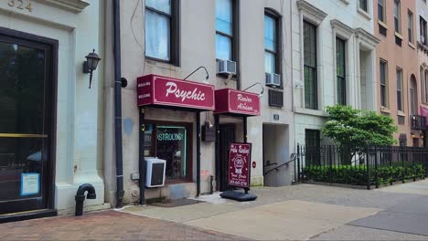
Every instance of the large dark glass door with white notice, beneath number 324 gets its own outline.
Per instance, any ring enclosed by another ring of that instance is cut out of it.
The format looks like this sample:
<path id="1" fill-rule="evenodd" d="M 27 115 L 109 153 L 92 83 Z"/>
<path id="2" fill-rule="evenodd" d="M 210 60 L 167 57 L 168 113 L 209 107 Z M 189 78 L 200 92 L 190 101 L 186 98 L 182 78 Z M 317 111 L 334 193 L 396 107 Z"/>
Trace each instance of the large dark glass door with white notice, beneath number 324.
<path id="1" fill-rule="evenodd" d="M 47 208 L 51 51 L 0 33 L 0 215 Z"/>

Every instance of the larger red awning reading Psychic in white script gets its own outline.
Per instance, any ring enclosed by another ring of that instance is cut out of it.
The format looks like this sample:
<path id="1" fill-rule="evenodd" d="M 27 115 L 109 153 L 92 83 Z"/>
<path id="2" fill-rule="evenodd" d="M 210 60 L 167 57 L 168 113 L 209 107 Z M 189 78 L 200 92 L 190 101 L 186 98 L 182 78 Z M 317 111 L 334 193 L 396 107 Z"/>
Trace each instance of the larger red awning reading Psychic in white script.
<path id="1" fill-rule="evenodd" d="M 214 86 L 146 75 L 137 78 L 137 105 L 214 110 Z"/>

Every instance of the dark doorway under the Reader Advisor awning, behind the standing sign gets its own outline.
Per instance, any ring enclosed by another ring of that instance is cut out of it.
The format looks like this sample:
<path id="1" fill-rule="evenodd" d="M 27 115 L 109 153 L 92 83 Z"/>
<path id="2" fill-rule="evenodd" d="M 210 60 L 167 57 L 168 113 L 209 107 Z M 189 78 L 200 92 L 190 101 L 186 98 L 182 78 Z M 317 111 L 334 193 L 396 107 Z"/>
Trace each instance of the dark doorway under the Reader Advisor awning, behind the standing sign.
<path id="1" fill-rule="evenodd" d="M 220 189 L 229 189 L 229 147 L 235 141 L 235 125 L 223 124 L 219 126 L 219 156 L 220 156 Z"/>

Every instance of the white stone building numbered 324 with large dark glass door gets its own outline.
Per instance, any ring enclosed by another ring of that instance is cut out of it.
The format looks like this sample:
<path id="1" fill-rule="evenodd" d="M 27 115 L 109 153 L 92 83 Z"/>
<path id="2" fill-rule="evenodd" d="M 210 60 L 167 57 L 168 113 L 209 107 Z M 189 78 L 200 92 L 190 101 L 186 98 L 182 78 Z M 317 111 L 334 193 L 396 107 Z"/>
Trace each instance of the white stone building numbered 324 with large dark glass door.
<path id="1" fill-rule="evenodd" d="M 96 191 L 85 204 L 104 204 L 103 3 L 0 3 L 2 217 L 71 213 L 83 183 Z M 82 66 L 92 49 L 102 61 L 89 89 Z"/>

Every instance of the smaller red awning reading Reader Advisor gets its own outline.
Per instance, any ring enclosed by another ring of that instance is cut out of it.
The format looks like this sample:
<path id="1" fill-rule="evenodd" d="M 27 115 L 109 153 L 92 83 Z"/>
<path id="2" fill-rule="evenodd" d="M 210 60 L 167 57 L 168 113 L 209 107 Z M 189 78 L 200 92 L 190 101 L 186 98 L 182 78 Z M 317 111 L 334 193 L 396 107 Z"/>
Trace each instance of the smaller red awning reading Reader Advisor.
<path id="1" fill-rule="evenodd" d="M 217 89 L 214 114 L 258 116 L 259 95 L 237 89 Z"/>

